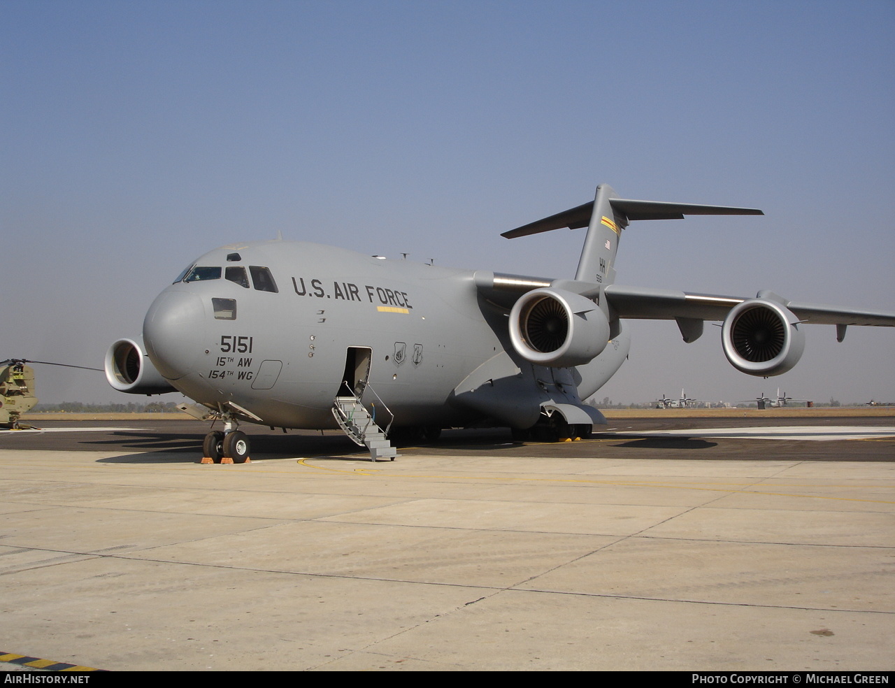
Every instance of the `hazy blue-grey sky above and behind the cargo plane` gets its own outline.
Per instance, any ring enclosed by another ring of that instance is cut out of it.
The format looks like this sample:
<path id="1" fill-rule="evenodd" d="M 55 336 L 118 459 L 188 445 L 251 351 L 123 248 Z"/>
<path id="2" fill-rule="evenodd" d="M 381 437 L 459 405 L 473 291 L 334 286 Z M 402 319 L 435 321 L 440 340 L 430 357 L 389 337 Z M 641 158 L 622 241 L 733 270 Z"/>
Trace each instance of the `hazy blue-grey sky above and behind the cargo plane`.
<path id="1" fill-rule="evenodd" d="M 2 0 L 0 56 L 2 358 L 100 366 L 192 259 L 277 232 L 572 276 L 582 232 L 499 233 L 601 182 L 766 213 L 635 223 L 620 284 L 895 310 L 890 0 Z M 889 328 L 810 327 L 771 380 L 716 327 L 632 331 L 600 398 L 895 401 Z"/>

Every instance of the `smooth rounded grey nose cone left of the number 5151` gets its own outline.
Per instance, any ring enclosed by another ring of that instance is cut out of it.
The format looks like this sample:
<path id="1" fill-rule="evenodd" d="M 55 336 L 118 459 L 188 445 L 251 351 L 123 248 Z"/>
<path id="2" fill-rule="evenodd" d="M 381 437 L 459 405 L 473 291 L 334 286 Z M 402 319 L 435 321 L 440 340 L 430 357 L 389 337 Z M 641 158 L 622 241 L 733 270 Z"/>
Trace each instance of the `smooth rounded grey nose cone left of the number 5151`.
<path id="1" fill-rule="evenodd" d="M 171 290 L 158 294 L 143 320 L 143 342 L 149 359 L 165 378 L 183 378 L 195 369 L 206 327 L 204 302 L 194 293 Z"/>

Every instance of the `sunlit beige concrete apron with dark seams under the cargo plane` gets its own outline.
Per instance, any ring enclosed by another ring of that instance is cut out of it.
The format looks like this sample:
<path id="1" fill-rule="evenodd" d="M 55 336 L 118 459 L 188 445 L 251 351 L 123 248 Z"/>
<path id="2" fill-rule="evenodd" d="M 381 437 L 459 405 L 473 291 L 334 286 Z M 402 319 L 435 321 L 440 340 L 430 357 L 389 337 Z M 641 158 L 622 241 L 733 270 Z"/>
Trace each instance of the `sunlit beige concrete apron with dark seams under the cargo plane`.
<path id="1" fill-rule="evenodd" d="M 251 463 L 201 465 L 207 427 L 192 421 L 4 433 L 0 655 L 111 670 L 891 670 L 891 419 L 777 420 L 864 438 L 624 420 L 559 445 L 448 432 L 371 463 L 335 433 L 251 428 Z M 673 429 L 687 432 L 642 434 Z"/>

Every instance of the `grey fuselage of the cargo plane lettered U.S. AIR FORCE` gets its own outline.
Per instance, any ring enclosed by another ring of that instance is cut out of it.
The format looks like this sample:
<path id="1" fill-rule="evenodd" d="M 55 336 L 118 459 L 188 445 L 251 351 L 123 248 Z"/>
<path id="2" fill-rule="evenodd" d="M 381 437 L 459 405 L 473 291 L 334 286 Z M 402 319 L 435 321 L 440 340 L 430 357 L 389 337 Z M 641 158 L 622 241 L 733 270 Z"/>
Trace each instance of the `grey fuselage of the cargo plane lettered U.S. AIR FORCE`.
<path id="1" fill-rule="evenodd" d="M 578 369 L 533 366 L 512 351 L 507 312 L 482 299 L 474 271 L 283 241 L 209 251 L 158 295 L 143 338 L 162 376 L 196 402 L 314 429 L 336 427 L 343 385 L 398 426 L 512 424 L 478 403 L 474 371 L 532 386 L 574 378 L 584 398 L 628 346 L 622 334 Z"/>

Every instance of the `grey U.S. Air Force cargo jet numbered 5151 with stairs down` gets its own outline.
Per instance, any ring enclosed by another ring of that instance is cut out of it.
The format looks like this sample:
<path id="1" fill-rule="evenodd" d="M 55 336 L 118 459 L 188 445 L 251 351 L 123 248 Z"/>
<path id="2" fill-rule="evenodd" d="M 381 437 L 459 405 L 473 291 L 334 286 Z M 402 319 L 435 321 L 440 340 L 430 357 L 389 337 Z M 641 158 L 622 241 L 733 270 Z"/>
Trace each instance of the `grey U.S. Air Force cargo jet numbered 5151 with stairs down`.
<path id="1" fill-rule="evenodd" d="M 247 242 L 202 256 L 158 295 L 142 344 L 109 348 L 115 389 L 181 392 L 197 417 L 223 420 L 203 443 L 213 462 L 250 454 L 242 422 L 341 428 L 371 459 L 389 437 L 507 427 L 516 439 L 587 436 L 604 424 L 583 403 L 625 361 L 625 319 L 674 319 L 686 342 L 722 320 L 725 355 L 768 377 L 802 354 L 803 323 L 895 326 L 895 313 L 615 284 L 629 222 L 685 215 L 763 215 L 729 208 L 595 199 L 503 234 L 587 227 L 575 279 L 517 276 L 385 260 L 306 242 Z M 186 409 L 189 410 L 189 409 Z"/>

